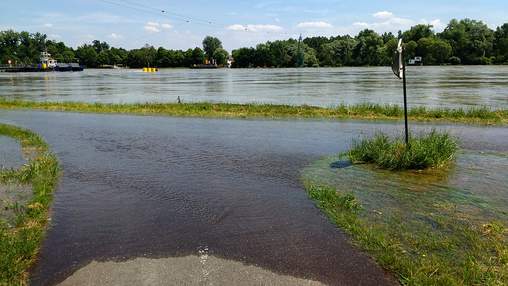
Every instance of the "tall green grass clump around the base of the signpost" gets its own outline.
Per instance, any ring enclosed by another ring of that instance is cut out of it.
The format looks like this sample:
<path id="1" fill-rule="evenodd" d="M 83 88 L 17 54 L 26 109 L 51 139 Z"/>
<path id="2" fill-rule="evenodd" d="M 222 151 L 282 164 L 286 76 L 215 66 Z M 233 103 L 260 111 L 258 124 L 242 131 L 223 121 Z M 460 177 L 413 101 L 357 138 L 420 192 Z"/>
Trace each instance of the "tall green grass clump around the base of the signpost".
<path id="1" fill-rule="evenodd" d="M 361 140 L 352 139 L 345 154 L 354 163 L 376 163 L 389 169 L 427 169 L 452 161 L 457 141 L 449 132 L 432 129 L 429 133 L 422 131 L 418 137 L 409 133 L 406 146 L 405 136 L 390 141 L 389 135 L 378 132 Z"/>

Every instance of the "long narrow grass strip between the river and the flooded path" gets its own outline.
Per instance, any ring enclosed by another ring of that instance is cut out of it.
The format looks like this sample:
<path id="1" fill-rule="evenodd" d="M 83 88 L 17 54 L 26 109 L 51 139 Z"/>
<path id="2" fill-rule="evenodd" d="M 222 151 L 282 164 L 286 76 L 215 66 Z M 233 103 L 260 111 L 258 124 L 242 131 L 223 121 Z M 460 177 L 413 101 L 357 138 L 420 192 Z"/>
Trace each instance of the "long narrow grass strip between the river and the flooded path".
<path id="1" fill-rule="evenodd" d="M 198 117 L 308 117 L 308 118 L 354 118 L 371 120 L 403 120 L 404 109 L 397 104 L 362 102 L 354 105 L 339 104 L 328 107 L 286 105 L 267 103 L 85 103 L 85 102 L 35 102 L 8 100 L 0 97 L 0 108 L 42 108 L 101 113 L 161 114 L 170 116 Z M 480 125 L 506 125 L 508 109 L 491 110 L 486 106 L 450 109 L 445 107 L 411 107 L 408 119 L 413 121 L 452 121 Z"/>

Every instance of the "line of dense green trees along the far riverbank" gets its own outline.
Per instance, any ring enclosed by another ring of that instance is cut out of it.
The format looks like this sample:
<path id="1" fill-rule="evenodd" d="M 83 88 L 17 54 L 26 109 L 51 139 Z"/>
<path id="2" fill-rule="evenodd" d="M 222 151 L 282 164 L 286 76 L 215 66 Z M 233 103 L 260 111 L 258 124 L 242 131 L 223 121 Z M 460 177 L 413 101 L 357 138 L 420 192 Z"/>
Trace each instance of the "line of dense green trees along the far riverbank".
<path id="1" fill-rule="evenodd" d="M 406 62 L 415 56 L 423 58 L 424 65 L 490 65 L 508 64 L 508 23 L 492 30 L 482 21 L 452 19 L 441 33 L 432 31 L 430 24 L 418 24 L 409 30 L 377 34 L 365 29 L 357 36 L 305 38 L 301 43 L 304 66 L 389 66 L 398 39 L 403 40 Z M 231 52 L 233 68 L 248 67 L 294 67 L 299 42 L 295 39 L 260 43 L 242 47 Z M 196 47 L 183 50 L 155 49 L 145 44 L 140 49 L 125 50 L 110 47 L 106 42 L 94 40 L 77 49 L 63 42 L 48 40 L 39 32 L 0 32 L 0 64 L 8 60 L 18 63 L 39 63 L 41 51 L 47 50 L 54 58 L 78 58 L 85 67 L 98 65 L 123 65 L 141 67 L 189 67 L 216 60 L 227 64 L 229 53 L 219 39 L 207 36 L 203 49 Z"/>

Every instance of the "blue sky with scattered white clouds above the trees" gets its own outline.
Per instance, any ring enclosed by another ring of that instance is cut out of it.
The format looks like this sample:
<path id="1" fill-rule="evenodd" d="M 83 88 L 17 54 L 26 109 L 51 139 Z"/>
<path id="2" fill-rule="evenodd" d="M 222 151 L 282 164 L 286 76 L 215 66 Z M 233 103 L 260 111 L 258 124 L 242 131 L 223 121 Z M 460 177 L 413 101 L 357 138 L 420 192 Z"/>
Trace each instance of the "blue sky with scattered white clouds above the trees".
<path id="1" fill-rule="evenodd" d="M 218 38 L 231 53 L 267 41 L 314 36 L 378 34 L 431 24 L 442 32 L 451 19 L 482 21 L 494 29 L 508 22 L 502 1 L 173 1 L 0 0 L 0 31 L 40 32 L 77 48 L 93 40 L 127 50 L 145 44 L 173 50 L 203 48 Z"/>

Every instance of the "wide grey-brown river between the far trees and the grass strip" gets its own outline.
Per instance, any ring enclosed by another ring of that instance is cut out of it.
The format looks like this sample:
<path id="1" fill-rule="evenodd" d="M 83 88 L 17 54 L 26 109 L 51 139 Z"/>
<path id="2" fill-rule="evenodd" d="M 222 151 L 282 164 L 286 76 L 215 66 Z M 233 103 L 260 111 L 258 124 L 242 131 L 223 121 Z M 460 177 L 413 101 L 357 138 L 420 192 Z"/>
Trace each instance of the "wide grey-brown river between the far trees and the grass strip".
<path id="1" fill-rule="evenodd" d="M 7 99 L 35 101 L 403 104 L 402 80 L 390 67 L 0 73 L 0 88 Z M 505 109 L 508 66 L 407 67 L 407 102 Z"/>

